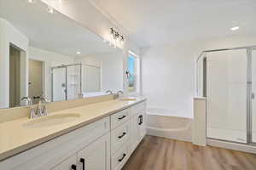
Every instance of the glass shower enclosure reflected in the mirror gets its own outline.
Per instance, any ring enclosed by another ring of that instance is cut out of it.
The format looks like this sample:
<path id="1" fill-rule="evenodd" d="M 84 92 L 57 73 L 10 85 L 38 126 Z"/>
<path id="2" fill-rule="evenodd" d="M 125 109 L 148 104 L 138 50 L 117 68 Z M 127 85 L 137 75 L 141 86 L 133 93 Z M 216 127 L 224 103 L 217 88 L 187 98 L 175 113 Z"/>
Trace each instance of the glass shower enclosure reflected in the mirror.
<path id="1" fill-rule="evenodd" d="M 51 68 L 51 101 L 78 99 L 82 94 L 82 65 L 58 65 Z"/>

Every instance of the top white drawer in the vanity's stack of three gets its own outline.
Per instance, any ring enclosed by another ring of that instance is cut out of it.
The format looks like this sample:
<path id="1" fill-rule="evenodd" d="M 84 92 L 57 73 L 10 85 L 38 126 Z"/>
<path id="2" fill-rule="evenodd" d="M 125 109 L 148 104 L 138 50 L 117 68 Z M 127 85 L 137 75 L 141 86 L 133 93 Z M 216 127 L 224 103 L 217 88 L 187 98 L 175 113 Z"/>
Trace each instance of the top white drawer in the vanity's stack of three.
<path id="1" fill-rule="evenodd" d="M 119 111 L 111 116 L 111 129 L 118 127 L 130 119 L 130 109 Z"/>

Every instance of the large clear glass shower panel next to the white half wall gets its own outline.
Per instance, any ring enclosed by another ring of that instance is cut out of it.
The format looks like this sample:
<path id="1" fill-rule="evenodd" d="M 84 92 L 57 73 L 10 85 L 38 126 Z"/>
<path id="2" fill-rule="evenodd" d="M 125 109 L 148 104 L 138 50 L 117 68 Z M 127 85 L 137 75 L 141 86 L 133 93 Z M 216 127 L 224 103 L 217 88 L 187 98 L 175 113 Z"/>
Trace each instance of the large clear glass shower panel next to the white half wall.
<path id="1" fill-rule="evenodd" d="M 247 143 L 247 50 L 208 52 L 204 63 L 207 138 Z"/>

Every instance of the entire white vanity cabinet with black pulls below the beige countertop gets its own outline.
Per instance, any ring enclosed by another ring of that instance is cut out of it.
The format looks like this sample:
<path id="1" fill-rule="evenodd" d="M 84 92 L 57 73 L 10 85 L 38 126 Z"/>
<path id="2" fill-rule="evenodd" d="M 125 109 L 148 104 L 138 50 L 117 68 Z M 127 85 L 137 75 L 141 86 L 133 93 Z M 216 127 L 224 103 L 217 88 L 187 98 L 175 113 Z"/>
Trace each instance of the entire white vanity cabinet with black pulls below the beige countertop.
<path id="1" fill-rule="evenodd" d="M 4 170 L 120 170 L 145 131 L 143 101 L 0 161 Z"/>

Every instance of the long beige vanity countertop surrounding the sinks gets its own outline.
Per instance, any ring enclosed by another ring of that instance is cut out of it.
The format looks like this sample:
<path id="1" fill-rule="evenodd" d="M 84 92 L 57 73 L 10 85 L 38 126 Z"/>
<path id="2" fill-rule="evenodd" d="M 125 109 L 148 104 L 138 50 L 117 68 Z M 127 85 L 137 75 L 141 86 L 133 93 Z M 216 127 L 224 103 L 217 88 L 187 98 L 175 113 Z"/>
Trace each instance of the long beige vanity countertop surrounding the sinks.
<path id="1" fill-rule="evenodd" d="M 1 122 L 0 161 L 24 150 L 28 150 L 38 144 L 42 144 L 50 139 L 61 136 L 64 133 L 83 127 L 91 122 L 96 122 L 105 116 L 110 116 L 117 111 L 124 110 L 131 105 L 136 105 L 144 100 L 146 100 L 144 97 L 137 97 L 136 100 L 133 101 L 112 99 L 67 110 L 51 112 L 49 113 L 49 116 L 72 113 L 79 114 L 80 116 L 72 122 L 45 127 L 24 126 L 27 122 L 33 121 L 28 119 L 28 117 L 22 117 L 9 122 Z"/>

